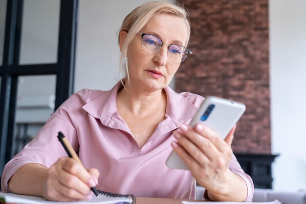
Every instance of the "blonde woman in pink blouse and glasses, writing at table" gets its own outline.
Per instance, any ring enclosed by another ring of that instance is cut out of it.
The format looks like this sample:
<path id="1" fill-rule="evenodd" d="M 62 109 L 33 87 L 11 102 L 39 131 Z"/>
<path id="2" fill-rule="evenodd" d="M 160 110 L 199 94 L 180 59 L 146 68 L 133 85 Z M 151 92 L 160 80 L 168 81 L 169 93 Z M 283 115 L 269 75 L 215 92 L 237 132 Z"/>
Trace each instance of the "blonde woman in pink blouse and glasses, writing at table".
<path id="1" fill-rule="evenodd" d="M 204 99 L 168 87 L 191 53 L 185 48 L 189 36 L 183 8 L 165 2 L 135 8 L 119 33 L 124 79 L 110 91 L 78 91 L 63 103 L 7 163 L 2 189 L 52 201 L 88 199 L 93 186 L 140 197 L 195 199 L 197 181 L 206 188 L 205 198 L 251 201 L 252 180 L 231 150 L 235 128 L 222 140 L 202 125 L 185 125 Z M 59 131 L 87 170 L 66 157 Z M 191 171 L 165 165 L 172 147 Z"/>

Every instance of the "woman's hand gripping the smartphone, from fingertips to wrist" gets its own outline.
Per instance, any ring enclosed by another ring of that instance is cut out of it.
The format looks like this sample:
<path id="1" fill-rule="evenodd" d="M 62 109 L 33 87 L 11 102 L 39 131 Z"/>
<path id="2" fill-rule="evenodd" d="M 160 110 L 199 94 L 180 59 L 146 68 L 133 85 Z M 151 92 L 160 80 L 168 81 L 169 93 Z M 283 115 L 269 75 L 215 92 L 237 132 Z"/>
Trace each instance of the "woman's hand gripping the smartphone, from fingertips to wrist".
<path id="1" fill-rule="evenodd" d="M 233 156 L 231 144 L 236 125 L 225 139 L 202 124 L 195 128 L 183 124 L 174 131 L 175 152 L 188 165 L 197 183 L 210 194 L 226 194 L 233 172 L 229 163 Z"/>

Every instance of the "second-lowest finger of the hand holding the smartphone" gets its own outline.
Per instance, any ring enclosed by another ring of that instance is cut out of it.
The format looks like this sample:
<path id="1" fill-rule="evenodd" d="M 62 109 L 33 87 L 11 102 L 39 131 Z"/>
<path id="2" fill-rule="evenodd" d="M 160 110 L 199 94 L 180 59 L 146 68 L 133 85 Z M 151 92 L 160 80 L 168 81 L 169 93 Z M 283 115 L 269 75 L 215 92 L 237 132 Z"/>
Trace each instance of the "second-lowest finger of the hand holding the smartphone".
<path id="1" fill-rule="evenodd" d="M 173 132 L 175 138 L 178 141 L 178 144 L 182 147 L 182 149 L 189 155 L 190 158 L 186 157 L 188 161 L 186 163 L 190 163 L 191 166 L 197 167 L 198 165 L 203 166 L 205 163 L 209 162 L 209 159 L 203 152 L 198 148 L 198 146 L 189 138 L 179 133 L 178 131 Z M 192 163 L 195 164 L 192 164 Z"/>

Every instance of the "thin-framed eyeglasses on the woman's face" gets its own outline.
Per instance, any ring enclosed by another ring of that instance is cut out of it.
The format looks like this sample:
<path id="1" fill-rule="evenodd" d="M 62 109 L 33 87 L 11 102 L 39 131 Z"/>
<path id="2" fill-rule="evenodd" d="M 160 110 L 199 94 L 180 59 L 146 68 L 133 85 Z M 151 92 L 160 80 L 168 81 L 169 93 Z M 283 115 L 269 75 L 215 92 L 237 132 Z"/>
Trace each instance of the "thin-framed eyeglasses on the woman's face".
<path id="1" fill-rule="evenodd" d="M 147 34 L 147 33 L 138 33 L 141 35 L 141 47 L 143 51 L 145 51 L 148 54 L 155 54 L 157 53 L 161 46 L 167 43 L 163 43 L 162 40 L 160 40 L 158 37 Z M 167 44 L 168 45 L 168 59 L 171 62 L 174 63 L 181 63 L 183 62 L 188 54 L 192 54 L 192 52 L 187 49 L 186 47 L 183 47 L 182 45 L 177 44 Z"/>

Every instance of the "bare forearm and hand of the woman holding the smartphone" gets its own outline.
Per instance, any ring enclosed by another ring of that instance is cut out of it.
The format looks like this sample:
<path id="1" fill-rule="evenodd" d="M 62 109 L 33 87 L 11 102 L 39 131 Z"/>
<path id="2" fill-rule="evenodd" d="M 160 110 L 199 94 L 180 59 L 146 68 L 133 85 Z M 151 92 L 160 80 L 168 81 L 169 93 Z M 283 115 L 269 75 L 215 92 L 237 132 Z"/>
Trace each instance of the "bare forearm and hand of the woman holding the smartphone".
<path id="1" fill-rule="evenodd" d="M 179 131 L 174 131 L 178 141 L 173 143 L 175 152 L 186 162 L 197 183 L 206 188 L 207 196 L 214 201 L 241 202 L 252 199 L 252 190 L 248 192 L 246 181 L 229 169 L 234 132 L 235 127 L 223 140 L 203 125 L 197 125 L 196 128 L 183 125 Z"/>

